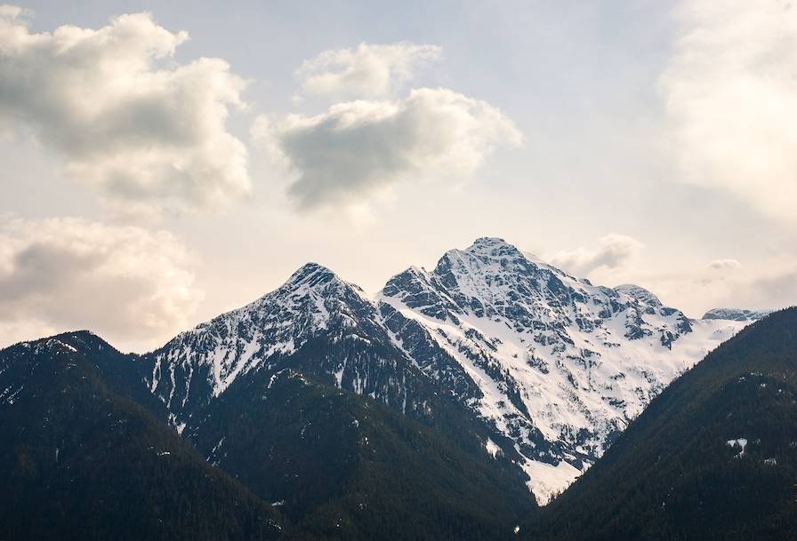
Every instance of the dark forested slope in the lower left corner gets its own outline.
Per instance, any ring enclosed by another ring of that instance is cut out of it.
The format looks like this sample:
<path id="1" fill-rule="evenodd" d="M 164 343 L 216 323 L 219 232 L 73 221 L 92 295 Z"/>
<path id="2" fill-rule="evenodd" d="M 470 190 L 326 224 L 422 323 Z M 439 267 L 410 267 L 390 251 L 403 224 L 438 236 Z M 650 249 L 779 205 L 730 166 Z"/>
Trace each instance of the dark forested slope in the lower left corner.
<path id="1" fill-rule="evenodd" d="M 0 352 L 0 538 L 278 537 L 269 505 L 131 400 L 158 410 L 137 370 L 85 332 Z"/>

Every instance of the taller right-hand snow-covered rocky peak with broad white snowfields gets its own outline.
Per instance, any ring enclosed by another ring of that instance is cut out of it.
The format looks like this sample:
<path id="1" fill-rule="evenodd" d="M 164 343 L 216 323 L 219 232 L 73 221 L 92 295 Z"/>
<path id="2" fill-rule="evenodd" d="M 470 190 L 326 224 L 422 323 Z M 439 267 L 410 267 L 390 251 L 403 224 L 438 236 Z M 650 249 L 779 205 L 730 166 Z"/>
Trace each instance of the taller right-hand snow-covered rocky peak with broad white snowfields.
<path id="1" fill-rule="evenodd" d="M 691 320 L 639 286 L 595 286 L 495 238 L 448 251 L 431 272 L 407 269 L 376 302 L 424 373 L 502 436 L 541 503 L 747 323 Z M 430 352 L 462 370 L 440 376 Z"/>

